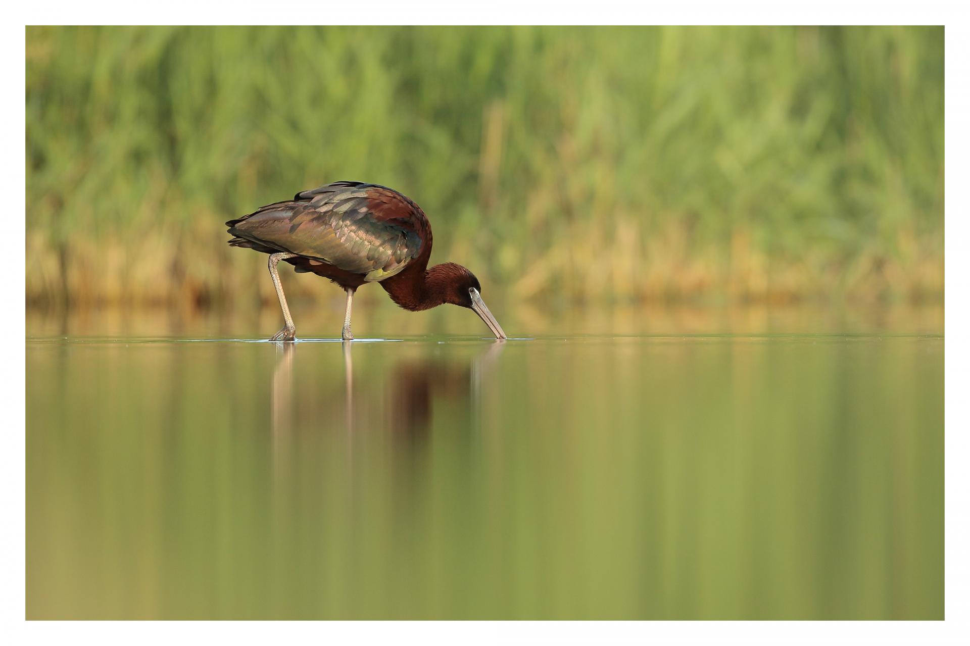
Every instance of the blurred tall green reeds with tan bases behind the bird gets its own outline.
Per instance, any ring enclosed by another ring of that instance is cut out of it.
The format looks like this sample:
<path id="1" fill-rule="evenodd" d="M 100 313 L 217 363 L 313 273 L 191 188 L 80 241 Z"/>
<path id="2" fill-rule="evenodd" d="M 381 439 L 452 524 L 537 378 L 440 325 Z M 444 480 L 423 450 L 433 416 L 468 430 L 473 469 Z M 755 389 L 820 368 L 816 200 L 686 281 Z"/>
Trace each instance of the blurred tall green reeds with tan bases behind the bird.
<path id="1" fill-rule="evenodd" d="M 27 299 L 272 302 L 222 222 L 360 179 L 510 298 L 940 300 L 943 37 L 30 27 Z"/>

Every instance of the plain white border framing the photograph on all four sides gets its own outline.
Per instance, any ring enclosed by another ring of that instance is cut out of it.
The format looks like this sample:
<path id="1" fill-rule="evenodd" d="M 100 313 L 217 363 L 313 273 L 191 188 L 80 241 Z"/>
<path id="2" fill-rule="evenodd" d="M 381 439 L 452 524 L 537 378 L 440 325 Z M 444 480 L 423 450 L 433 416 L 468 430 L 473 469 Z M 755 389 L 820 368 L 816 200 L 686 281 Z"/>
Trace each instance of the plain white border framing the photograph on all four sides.
<path id="1" fill-rule="evenodd" d="M 246 623 L 239 622 L 25 622 L 24 618 L 24 345 L 22 325 L 5 317 L 0 321 L 8 341 L 2 350 L 0 397 L 5 411 L 4 428 L 12 445 L 3 451 L 3 508 L 14 515 L 4 527 L 2 613 L 8 643 L 64 643 L 79 637 L 106 643 L 171 642 L 173 639 L 268 643 L 299 637 L 335 637 L 341 641 L 394 641 L 395 643 L 461 642 L 471 644 L 512 643 L 601 643 L 641 641 L 653 637 L 663 643 L 955 643 L 967 629 L 968 598 L 967 541 L 967 304 L 964 295 L 968 242 L 964 188 L 966 162 L 966 119 L 970 115 L 970 29 L 956 2 L 833 2 L 822 0 L 792 6 L 784 2 L 744 1 L 723 3 L 680 0 L 656 5 L 637 2 L 552 2 L 519 0 L 509 2 L 293 2 L 273 3 L 237 0 L 233 3 L 205 3 L 174 0 L 162 11 L 154 3 L 130 2 L 35 2 L 20 5 L 4 21 L 0 60 L 6 68 L 10 100 L 3 103 L 5 118 L 3 174 L 7 200 L 24 200 L 25 148 L 14 141 L 24 124 L 23 52 L 26 24 L 945 24 L 946 69 L 946 178 L 947 210 L 957 213 L 946 218 L 946 255 L 951 290 L 946 309 L 946 330 L 951 332 L 946 348 L 946 617 L 945 622 L 372 622 L 372 623 Z M 699 20 L 698 20 L 699 18 Z M 16 197 L 15 197 L 16 196 Z M 25 205 L 24 205 L 25 207 Z M 21 211 L 21 212 L 25 212 Z M 23 238 L 24 221 L 12 213 Z M 23 314 L 23 264 L 19 259 L 8 266 L 2 283 L 5 303 Z M 13 273 L 13 277 L 10 273 Z M 23 320 L 21 318 L 20 320 Z M 11 637 L 8 637 L 10 639 Z"/>

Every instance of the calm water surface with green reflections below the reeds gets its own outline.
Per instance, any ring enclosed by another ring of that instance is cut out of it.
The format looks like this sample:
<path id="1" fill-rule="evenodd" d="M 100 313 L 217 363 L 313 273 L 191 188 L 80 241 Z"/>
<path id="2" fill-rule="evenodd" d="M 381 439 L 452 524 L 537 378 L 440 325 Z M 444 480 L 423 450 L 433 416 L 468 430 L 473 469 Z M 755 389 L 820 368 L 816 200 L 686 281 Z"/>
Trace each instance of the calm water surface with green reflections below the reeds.
<path id="1" fill-rule="evenodd" d="M 493 308 L 28 319 L 28 617 L 943 618 L 942 312 Z"/>

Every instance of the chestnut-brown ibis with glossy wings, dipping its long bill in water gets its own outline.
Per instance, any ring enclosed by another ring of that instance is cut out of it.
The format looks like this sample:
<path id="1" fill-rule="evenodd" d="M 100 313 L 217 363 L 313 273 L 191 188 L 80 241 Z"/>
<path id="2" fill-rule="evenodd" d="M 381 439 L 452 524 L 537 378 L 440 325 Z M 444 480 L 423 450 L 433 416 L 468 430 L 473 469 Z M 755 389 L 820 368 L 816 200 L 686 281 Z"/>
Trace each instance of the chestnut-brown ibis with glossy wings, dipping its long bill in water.
<path id="1" fill-rule="evenodd" d="M 287 262 L 300 274 L 330 278 L 347 293 L 340 338 L 350 334 L 354 292 L 377 282 L 404 309 L 419 311 L 445 303 L 469 307 L 495 335 L 505 339 L 499 322 L 485 307 L 478 278 L 455 263 L 428 269 L 431 223 L 411 200 L 386 186 L 335 181 L 292 200 L 276 202 L 226 222 L 235 236 L 229 244 L 270 254 L 270 276 L 283 328 L 272 340 L 296 339 L 276 266 Z"/>

